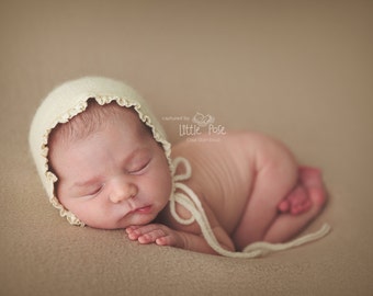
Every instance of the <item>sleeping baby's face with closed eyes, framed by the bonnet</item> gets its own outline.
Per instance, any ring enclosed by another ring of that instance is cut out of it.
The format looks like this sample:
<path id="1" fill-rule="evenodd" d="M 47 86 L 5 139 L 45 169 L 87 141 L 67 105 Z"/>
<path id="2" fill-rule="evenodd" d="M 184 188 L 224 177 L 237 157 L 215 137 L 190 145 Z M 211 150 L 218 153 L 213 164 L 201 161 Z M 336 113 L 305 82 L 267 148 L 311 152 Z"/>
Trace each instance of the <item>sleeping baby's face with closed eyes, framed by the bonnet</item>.
<path id="1" fill-rule="evenodd" d="M 91 227 L 148 224 L 171 193 L 162 148 L 137 115 L 127 113 L 88 137 L 57 140 L 50 148 L 59 202 Z"/>

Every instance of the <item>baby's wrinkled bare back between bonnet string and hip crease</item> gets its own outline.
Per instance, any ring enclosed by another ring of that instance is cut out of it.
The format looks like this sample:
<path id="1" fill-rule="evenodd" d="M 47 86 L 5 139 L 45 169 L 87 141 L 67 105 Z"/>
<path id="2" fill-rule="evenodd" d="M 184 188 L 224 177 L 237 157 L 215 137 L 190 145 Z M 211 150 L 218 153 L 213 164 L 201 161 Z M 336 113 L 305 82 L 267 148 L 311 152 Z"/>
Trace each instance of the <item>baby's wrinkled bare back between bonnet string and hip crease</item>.
<path id="1" fill-rule="evenodd" d="M 185 184 L 228 234 L 238 224 L 250 196 L 256 168 L 255 143 L 253 134 L 229 133 L 189 138 L 172 149 L 173 158 L 184 157 L 192 166 L 192 177 Z"/>

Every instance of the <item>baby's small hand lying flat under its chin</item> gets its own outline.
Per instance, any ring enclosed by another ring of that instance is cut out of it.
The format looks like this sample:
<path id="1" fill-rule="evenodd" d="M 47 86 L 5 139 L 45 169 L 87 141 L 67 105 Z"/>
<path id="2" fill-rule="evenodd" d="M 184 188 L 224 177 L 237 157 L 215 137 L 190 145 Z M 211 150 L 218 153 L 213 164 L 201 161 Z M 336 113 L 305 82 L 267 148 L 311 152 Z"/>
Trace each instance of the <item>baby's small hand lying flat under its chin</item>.
<path id="1" fill-rule="evenodd" d="M 182 235 L 161 224 L 129 226 L 126 232 L 131 240 L 137 240 L 139 243 L 155 242 L 159 246 L 184 247 Z"/>

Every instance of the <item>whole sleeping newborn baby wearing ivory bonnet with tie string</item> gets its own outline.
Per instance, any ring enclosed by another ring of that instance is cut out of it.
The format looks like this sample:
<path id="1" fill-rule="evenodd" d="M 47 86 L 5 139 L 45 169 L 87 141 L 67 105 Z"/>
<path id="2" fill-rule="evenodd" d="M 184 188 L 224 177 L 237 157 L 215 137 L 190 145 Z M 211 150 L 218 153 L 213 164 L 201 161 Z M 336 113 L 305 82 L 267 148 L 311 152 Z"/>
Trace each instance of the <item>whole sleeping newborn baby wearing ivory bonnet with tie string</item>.
<path id="1" fill-rule="evenodd" d="M 199 137 L 171 150 L 132 88 L 82 78 L 42 103 L 30 145 L 49 201 L 74 225 L 249 258 L 329 230 L 289 241 L 320 213 L 326 192 L 319 170 L 301 167 L 283 144 L 249 132 Z"/>

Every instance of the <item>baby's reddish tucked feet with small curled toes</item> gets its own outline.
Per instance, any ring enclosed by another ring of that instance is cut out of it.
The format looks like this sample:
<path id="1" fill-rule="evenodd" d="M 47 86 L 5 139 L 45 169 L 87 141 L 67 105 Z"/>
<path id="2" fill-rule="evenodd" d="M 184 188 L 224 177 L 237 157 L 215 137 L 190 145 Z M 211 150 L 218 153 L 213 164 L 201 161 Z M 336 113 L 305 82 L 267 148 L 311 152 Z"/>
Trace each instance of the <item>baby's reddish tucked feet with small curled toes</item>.
<path id="1" fill-rule="evenodd" d="M 314 205 L 323 206 L 326 194 L 321 173 L 314 168 L 299 168 L 299 181 L 295 189 L 278 206 L 281 213 L 303 214 Z"/>

